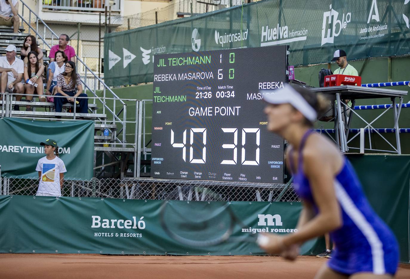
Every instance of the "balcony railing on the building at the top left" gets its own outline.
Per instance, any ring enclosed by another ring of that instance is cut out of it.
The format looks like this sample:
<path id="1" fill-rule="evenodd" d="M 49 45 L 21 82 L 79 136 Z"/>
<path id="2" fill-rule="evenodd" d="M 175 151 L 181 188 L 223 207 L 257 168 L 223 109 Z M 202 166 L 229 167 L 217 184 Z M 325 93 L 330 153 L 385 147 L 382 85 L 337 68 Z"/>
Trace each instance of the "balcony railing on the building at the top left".
<path id="1" fill-rule="evenodd" d="M 105 11 L 105 0 L 43 0 L 43 9 L 68 11 Z M 108 2 L 108 1 L 107 1 Z M 111 11 L 121 11 L 123 0 L 115 0 Z"/>

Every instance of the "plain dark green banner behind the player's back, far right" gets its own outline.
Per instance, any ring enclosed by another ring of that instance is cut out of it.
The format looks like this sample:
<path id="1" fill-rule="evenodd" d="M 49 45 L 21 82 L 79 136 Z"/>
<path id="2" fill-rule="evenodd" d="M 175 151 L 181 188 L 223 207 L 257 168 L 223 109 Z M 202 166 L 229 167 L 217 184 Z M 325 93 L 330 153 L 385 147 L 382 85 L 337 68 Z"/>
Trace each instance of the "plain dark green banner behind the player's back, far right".
<path id="1" fill-rule="evenodd" d="M 364 193 L 396 235 L 400 261 L 410 263 L 410 155 L 349 155 Z"/>

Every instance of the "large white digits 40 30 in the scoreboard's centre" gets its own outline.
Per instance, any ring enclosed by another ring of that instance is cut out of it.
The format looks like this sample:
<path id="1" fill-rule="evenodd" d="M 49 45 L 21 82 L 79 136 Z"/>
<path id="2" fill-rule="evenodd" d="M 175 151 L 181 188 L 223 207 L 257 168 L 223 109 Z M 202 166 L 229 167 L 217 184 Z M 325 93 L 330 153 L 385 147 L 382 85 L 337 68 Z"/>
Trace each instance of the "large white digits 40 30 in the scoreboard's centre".
<path id="1" fill-rule="evenodd" d="M 221 164 L 237 164 L 238 159 L 238 129 L 237 128 L 221 128 L 223 133 L 233 133 L 233 144 L 222 144 L 222 148 L 224 149 L 233 149 L 233 160 L 223 160 Z M 189 162 L 192 164 L 205 164 L 206 162 L 206 128 L 191 128 L 190 133 L 190 148 L 189 148 Z M 202 148 L 202 158 L 201 159 L 194 159 L 194 148 L 192 145 L 194 144 L 194 133 L 202 133 L 203 138 L 202 142 L 204 147 Z M 256 134 L 256 145 L 258 146 L 255 151 L 255 160 L 246 160 L 246 133 L 255 133 Z M 182 148 L 182 160 L 186 162 L 186 153 L 187 153 L 187 130 L 184 130 L 182 143 L 175 143 L 174 141 L 174 131 L 171 129 L 171 145 L 176 148 Z M 260 162 L 260 129 L 259 128 L 243 128 L 242 129 L 242 156 L 241 156 L 241 164 L 242 165 L 252 165 L 257 166 Z"/>

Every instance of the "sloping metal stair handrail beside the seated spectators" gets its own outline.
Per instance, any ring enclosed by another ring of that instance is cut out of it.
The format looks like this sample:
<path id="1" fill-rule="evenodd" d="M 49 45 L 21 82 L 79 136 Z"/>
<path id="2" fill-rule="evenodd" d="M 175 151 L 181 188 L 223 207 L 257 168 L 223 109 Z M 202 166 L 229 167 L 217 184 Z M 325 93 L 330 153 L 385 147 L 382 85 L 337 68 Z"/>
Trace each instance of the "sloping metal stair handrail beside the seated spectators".
<path id="1" fill-rule="evenodd" d="M 58 43 L 58 38 L 59 36 L 57 36 L 57 34 L 55 34 L 55 32 L 52 31 L 52 29 L 50 29 L 50 27 L 48 27 L 48 25 L 41 19 L 39 18 L 39 16 L 32 11 L 32 9 L 30 9 L 30 7 L 27 6 L 27 4 L 25 4 L 25 2 L 21 1 L 22 3 L 22 12 L 21 14 L 19 14 L 20 18 L 21 18 L 21 22 L 22 22 L 22 28 L 23 27 L 27 27 L 29 33 L 30 32 L 34 32 L 37 41 L 39 41 L 39 43 L 43 44 L 43 49 L 44 50 L 50 50 L 51 46 L 54 45 L 54 43 Z M 27 16 L 27 11 L 28 11 L 28 21 L 25 18 L 25 14 Z M 39 23 L 41 23 L 43 25 L 43 32 L 40 32 L 39 30 Z M 51 34 L 51 38 L 46 38 L 46 31 L 50 32 Z M 50 45 L 48 44 L 48 41 L 51 41 Z M 96 104 L 100 104 L 102 106 L 103 109 L 103 114 L 111 114 L 112 115 L 112 123 L 116 123 L 116 122 L 120 122 L 121 124 L 123 124 L 123 129 L 125 131 L 126 128 L 126 115 L 125 115 L 125 111 L 126 111 L 126 104 L 104 83 L 104 81 L 102 79 L 100 79 L 98 77 L 97 74 L 95 74 L 82 60 L 80 57 L 78 57 L 77 55 L 76 57 L 76 67 L 77 69 L 79 68 L 79 65 L 81 67 L 84 67 L 84 79 L 81 80 L 82 84 L 84 85 L 84 90 L 83 92 L 85 94 L 87 94 L 87 92 L 91 92 L 92 93 L 92 97 L 93 98 L 93 103 Z M 78 72 L 78 71 L 77 71 Z M 91 75 L 91 86 L 89 86 L 90 84 L 90 76 Z M 99 97 L 97 95 L 97 91 L 101 90 L 103 91 L 103 97 Z M 108 95 L 108 96 L 107 96 Z M 107 98 L 113 98 L 114 99 L 114 107 L 113 109 L 109 108 L 109 106 L 107 106 L 106 104 L 106 99 Z M 123 108 L 119 111 L 116 112 L 116 104 L 121 104 L 123 106 Z M 119 115 L 124 112 L 124 117 L 123 119 L 121 119 L 119 117 Z M 111 117 L 107 117 L 107 119 L 105 119 L 104 124 L 107 124 L 107 121 L 109 121 L 108 119 L 110 119 Z M 108 123 L 109 124 L 109 123 Z M 125 134 L 125 133 L 124 133 Z M 125 142 L 125 135 L 123 136 L 123 139 L 118 139 L 116 138 L 117 141 L 119 143 L 124 143 Z"/>

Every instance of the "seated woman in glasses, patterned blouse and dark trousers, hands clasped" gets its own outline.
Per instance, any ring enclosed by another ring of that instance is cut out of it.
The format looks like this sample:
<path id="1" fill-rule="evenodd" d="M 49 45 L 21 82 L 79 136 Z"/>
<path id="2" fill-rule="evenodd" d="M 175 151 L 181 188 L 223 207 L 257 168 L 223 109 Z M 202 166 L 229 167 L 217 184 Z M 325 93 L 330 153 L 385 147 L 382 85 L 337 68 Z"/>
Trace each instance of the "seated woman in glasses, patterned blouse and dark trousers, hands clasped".
<path id="1" fill-rule="evenodd" d="M 75 86 L 77 85 L 77 93 Z M 64 73 L 57 76 L 57 93 L 55 96 L 67 96 L 68 98 L 54 98 L 54 106 L 56 112 L 62 112 L 64 103 L 74 103 L 75 99 L 70 97 L 87 97 L 87 94 L 82 93 L 82 85 L 80 74 L 75 72 L 75 63 L 68 61 Z M 87 113 L 88 99 L 77 99 L 80 103 L 80 113 Z"/>

